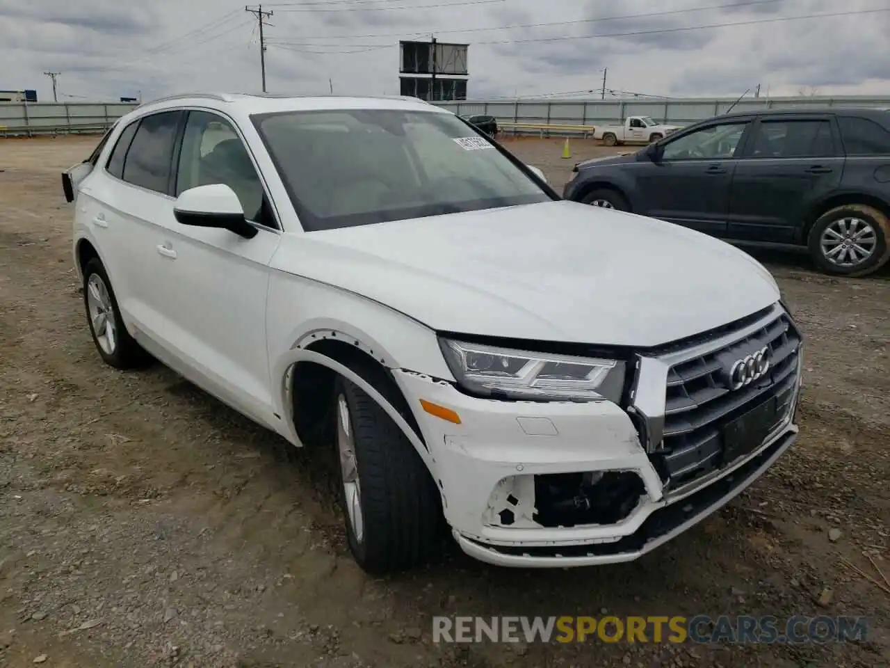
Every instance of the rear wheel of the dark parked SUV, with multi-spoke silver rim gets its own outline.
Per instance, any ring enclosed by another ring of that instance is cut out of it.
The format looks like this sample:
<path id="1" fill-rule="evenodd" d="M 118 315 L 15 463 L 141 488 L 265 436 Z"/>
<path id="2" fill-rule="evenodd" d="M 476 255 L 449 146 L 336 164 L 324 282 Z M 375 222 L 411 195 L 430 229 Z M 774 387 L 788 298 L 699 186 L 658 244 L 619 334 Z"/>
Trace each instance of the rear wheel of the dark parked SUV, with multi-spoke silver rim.
<path id="1" fill-rule="evenodd" d="M 890 259 L 887 216 L 876 208 L 848 204 L 832 208 L 813 223 L 807 245 L 824 273 L 860 277 L 877 272 Z"/>

